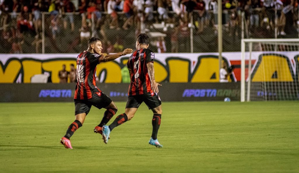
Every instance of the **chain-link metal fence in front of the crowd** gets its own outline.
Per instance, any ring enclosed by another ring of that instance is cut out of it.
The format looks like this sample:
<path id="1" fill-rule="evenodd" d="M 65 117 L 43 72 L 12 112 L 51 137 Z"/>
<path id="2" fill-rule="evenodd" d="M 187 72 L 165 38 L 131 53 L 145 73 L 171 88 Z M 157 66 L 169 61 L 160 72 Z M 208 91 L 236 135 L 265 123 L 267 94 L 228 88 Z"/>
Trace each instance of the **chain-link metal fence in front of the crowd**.
<path id="1" fill-rule="evenodd" d="M 298 38 L 298 8 L 285 15 L 283 32 L 280 14 L 280 10 L 223 10 L 223 51 L 240 51 L 242 38 Z M 0 53 L 78 53 L 87 48 L 91 36 L 101 39 L 103 52 L 120 52 L 134 48 L 141 32 L 150 36 L 154 52 L 218 52 L 217 15 L 196 10 L 184 16 L 174 12 L 160 16 L 155 11 L 132 16 L 43 12 L 29 22 L 17 13 L 2 13 Z"/>

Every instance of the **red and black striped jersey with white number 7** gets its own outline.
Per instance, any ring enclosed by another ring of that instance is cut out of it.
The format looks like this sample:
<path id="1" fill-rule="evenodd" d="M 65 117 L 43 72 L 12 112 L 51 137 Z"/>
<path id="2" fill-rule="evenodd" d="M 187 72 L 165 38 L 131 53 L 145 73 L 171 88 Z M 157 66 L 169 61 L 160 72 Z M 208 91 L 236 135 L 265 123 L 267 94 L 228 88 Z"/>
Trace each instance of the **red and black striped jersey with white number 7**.
<path id="1" fill-rule="evenodd" d="M 154 63 L 154 60 L 155 53 L 149 49 L 138 49 L 131 55 L 127 63 L 131 79 L 128 95 L 153 92 L 147 63 Z"/>

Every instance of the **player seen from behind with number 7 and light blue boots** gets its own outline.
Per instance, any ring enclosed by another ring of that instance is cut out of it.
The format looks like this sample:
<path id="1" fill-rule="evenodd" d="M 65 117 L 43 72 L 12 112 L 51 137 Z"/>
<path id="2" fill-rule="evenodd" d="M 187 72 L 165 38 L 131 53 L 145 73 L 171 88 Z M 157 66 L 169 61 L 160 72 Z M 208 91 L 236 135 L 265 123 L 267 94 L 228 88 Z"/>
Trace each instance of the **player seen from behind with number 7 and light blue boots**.
<path id="1" fill-rule="evenodd" d="M 157 139 L 161 124 L 161 99 L 158 96 L 158 84 L 154 75 L 155 53 L 147 49 L 149 37 L 139 34 L 136 40 L 136 51 L 128 60 L 127 66 L 130 73 L 131 83 L 129 85 L 128 100 L 125 113 L 120 114 L 109 126 L 103 126 L 103 140 L 107 144 L 110 132 L 117 126 L 131 120 L 138 107 L 144 102 L 154 113 L 152 117 L 152 137 L 149 144 L 162 147 Z"/>

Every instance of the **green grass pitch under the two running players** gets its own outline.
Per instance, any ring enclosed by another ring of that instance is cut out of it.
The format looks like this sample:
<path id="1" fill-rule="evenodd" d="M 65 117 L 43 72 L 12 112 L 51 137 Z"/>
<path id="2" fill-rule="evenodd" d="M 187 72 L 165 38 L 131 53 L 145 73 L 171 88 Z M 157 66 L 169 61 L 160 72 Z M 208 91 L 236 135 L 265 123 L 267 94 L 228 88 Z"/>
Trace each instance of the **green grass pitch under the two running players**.
<path id="1" fill-rule="evenodd" d="M 116 105 L 123 113 L 125 102 Z M 148 144 L 152 112 L 144 104 L 108 144 L 93 133 L 104 110 L 92 107 L 71 150 L 60 138 L 74 121 L 73 103 L 1 103 L 0 172 L 299 172 L 298 105 L 163 102 L 163 148 Z"/>

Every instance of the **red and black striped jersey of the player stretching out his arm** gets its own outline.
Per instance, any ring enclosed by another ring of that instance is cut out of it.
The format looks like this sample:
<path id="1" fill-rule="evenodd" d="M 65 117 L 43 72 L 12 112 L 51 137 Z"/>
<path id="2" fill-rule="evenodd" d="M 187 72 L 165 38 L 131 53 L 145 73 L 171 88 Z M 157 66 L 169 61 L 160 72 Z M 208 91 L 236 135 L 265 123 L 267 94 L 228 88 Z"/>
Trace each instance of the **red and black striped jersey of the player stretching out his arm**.
<path id="1" fill-rule="evenodd" d="M 100 54 L 82 52 L 77 57 L 77 85 L 74 99 L 90 99 L 92 93 L 101 92 L 95 83 Z"/>

